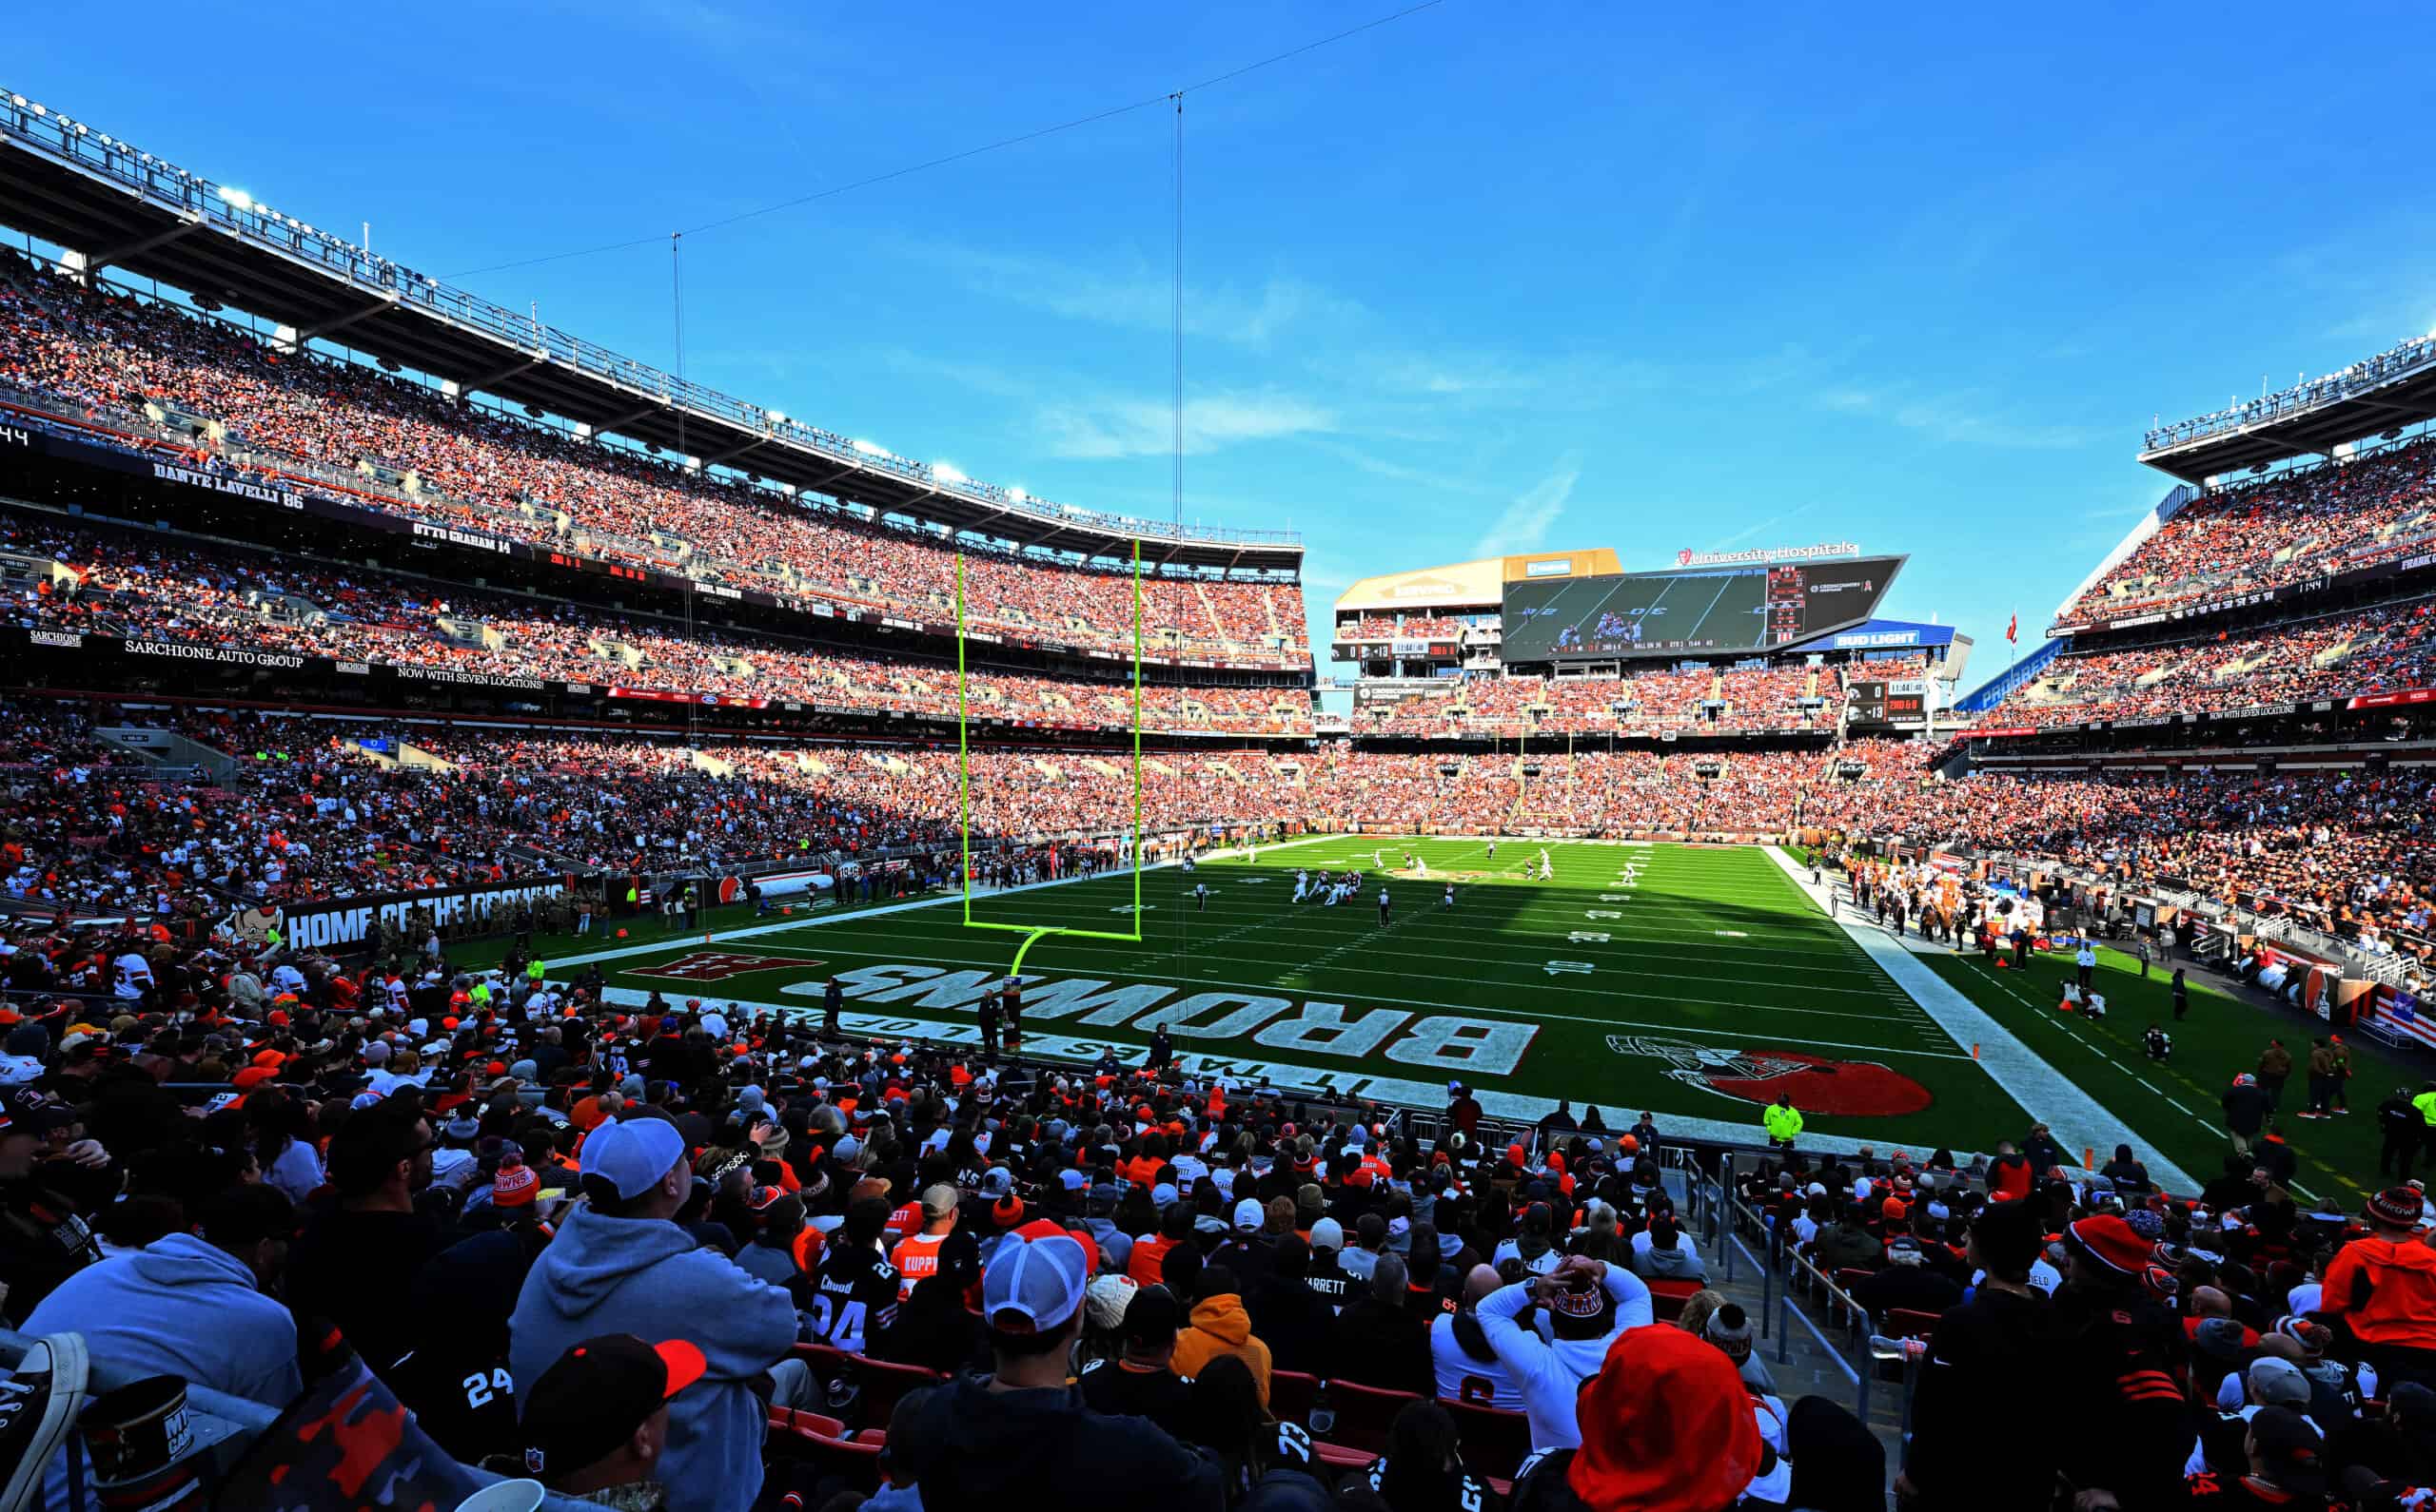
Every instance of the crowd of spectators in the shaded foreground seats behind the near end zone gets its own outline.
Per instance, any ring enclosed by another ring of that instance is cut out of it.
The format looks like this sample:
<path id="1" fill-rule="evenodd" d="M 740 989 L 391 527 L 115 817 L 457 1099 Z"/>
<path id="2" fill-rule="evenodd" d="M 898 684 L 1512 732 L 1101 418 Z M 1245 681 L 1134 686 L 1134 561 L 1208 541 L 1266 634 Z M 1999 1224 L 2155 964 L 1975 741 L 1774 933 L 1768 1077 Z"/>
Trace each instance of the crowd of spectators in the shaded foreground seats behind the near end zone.
<path id="1" fill-rule="evenodd" d="M 1795 1142 L 1739 1213 L 1917 1339 L 1890 1466 L 1839 1402 L 1786 1400 L 1647 1113 L 1557 1105 L 1505 1142 L 1454 1086 L 1420 1139 L 1157 1047 L 1035 1066 L 516 959 L 12 947 L 0 1283 L 41 1339 L 12 1390 L 93 1361 L 395 1402 L 358 1468 L 436 1507 L 463 1466 L 677 1512 L 1108 1475 L 1174 1507 L 1859 1512 L 1888 1468 L 1932 1512 L 2324 1512 L 2436 1480 L 2407 1186 L 2343 1220 L 2244 1154 L 2168 1195 L 2036 1127 L 1968 1166 Z M 1990 1463 L 2027 1402 L 2095 1417 Z M 49 1505 L 158 1473 L 68 1417 L 10 1439 Z"/>

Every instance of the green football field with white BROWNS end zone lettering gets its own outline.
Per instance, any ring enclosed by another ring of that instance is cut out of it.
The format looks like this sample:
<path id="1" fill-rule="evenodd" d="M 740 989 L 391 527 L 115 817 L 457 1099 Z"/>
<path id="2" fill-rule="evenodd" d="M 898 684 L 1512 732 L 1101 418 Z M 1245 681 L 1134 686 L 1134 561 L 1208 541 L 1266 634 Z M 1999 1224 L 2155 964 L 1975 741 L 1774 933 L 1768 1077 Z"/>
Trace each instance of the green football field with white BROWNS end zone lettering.
<path id="1" fill-rule="evenodd" d="M 1557 1098 L 1598 1105 L 1622 1127 L 1756 1139 L 1776 1091 L 1808 1135 L 1927 1149 L 1993 1149 L 2032 1113 L 1973 1047 L 1939 1025 L 1871 954 L 1754 847 L 1549 842 L 1552 879 L 1525 879 L 1537 840 L 1328 838 L 1142 877 L 1142 942 L 1043 937 L 1023 962 L 1026 1052 L 1140 1057 L 1167 1023 L 1196 1071 L 1286 1088 L 1435 1105 L 1449 1079 L 1491 1113 L 1537 1118 Z M 1413 855 L 1425 872 L 1406 872 Z M 1379 859 L 1393 915 L 1379 920 Z M 1298 869 L 1364 872 L 1362 896 L 1294 903 Z M 1445 884 L 1454 881 L 1454 903 Z M 1208 886 L 1196 908 L 1191 889 Z M 1009 925 L 1125 930 L 1133 877 L 977 894 L 972 915 Z M 1864 925 L 1868 928 L 1868 925 Z M 794 920 L 721 911 L 714 942 L 543 940 L 553 967 L 602 952 L 611 998 L 704 998 L 818 1013 L 821 984 L 848 984 L 845 1027 L 977 1040 L 974 1003 L 1021 935 L 970 930 L 957 901 L 818 908 Z M 495 954 L 495 950 L 492 950 Z M 2166 974 L 2107 952 L 2105 1025 L 2054 1013 L 2068 957 L 2024 971 L 1927 957 L 1939 979 L 1993 1015 L 2036 1059 L 2095 1098 L 2114 1132 L 2195 1178 L 2227 1142 L 2217 1091 L 2270 1032 L 2307 1054 L 2307 1027 L 2227 998 L 2192 974 L 2178 1054 L 2139 1054 L 2149 1018 L 2168 1018 Z M 2348 1200 L 2375 1169 L 2378 1096 L 2414 1071 L 2356 1047 L 2360 1113 L 2287 1122 L 2312 1195 Z M 2300 1088 L 2292 1088 L 2297 1108 Z M 2034 1098 L 2032 1098 L 2034 1101 Z M 2041 1105 L 2041 1118 L 2054 1118 Z M 2063 1122 L 2058 1120 L 2058 1132 Z M 2066 1137 L 2071 1144 L 2071 1137 Z M 2107 1139 L 2110 1144 L 2112 1139 Z M 2075 1149 L 2078 1154 L 2078 1149 Z M 2097 1149 L 2105 1159 L 2110 1149 Z"/>

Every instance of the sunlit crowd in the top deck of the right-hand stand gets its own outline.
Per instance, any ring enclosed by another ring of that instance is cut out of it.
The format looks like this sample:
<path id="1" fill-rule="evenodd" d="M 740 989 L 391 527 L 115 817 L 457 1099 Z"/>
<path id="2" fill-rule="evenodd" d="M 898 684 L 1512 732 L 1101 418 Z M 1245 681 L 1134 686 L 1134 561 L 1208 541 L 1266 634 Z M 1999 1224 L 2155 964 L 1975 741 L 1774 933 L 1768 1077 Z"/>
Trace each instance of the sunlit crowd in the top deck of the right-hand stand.
<path id="1" fill-rule="evenodd" d="M 2058 623 L 2307 582 L 2436 538 L 2436 443 L 2322 463 L 2192 499 L 2063 606 Z"/>

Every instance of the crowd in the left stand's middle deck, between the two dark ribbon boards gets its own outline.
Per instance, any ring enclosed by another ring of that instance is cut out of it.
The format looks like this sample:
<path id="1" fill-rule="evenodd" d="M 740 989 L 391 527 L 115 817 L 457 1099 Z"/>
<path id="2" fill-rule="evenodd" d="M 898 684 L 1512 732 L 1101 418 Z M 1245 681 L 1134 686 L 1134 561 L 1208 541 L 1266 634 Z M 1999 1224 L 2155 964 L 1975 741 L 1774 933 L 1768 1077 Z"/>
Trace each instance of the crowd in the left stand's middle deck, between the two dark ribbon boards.
<path id="1" fill-rule="evenodd" d="M 17 623 L 146 640 L 200 640 L 334 660 L 392 662 L 495 677 L 543 677 L 716 694 L 721 701 L 797 699 L 867 713 L 952 718 L 952 662 L 823 650 L 775 635 L 711 631 L 582 609 L 568 601 L 436 592 L 402 577 L 341 572 L 287 558 L 129 541 L 0 516 L 0 550 L 51 560 L 10 584 Z M 1133 689 L 974 667 L 965 699 L 977 718 L 1052 728 L 1133 728 Z M 1311 696 L 1279 687 L 1160 684 L 1142 694 L 1147 728 L 1225 735 L 1308 735 Z"/>

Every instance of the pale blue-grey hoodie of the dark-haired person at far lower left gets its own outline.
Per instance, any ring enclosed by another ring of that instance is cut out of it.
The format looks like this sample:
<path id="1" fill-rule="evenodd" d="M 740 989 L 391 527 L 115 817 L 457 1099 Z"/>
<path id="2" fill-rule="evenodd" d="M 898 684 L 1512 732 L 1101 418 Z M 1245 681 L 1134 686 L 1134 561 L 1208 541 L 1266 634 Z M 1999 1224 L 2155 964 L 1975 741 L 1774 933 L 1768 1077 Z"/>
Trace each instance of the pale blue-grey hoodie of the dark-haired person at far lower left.
<path id="1" fill-rule="evenodd" d="M 178 1376 L 266 1407 L 302 1390 L 297 1325 L 266 1298 L 246 1261 L 195 1234 L 163 1234 L 129 1254 L 85 1266 L 24 1320 L 32 1337 L 83 1334 L 97 1363 L 132 1376 Z M 51 1456 L 44 1495 L 71 1507 L 68 1451 Z M 90 1461 L 85 1485 L 93 1485 Z M 90 1502 L 90 1490 L 88 1490 Z"/>

